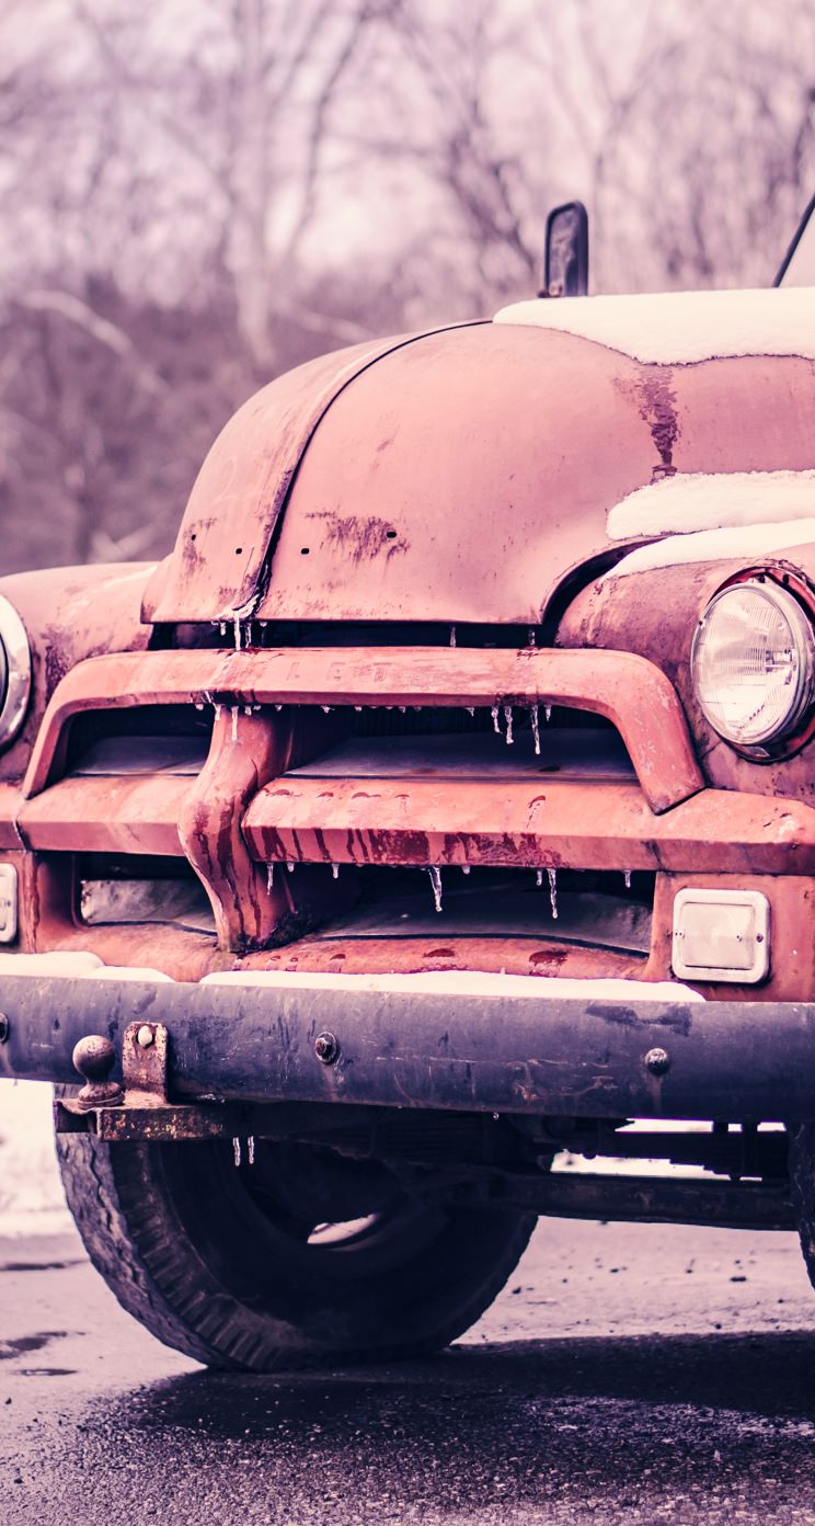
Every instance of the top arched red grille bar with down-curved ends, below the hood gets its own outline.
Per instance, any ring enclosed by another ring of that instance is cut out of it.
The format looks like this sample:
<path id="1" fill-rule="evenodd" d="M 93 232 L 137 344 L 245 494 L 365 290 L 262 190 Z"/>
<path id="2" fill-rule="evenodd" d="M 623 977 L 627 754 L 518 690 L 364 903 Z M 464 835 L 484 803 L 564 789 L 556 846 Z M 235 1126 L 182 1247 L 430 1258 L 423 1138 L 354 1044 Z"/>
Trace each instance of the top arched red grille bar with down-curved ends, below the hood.
<path id="1" fill-rule="evenodd" d="M 620 731 L 653 812 L 702 789 L 676 691 L 627 652 L 438 647 L 285 652 L 131 652 L 90 658 L 66 674 L 46 711 L 24 781 L 40 794 L 60 772 L 73 716 L 162 703 L 559 705 L 604 716 Z"/>

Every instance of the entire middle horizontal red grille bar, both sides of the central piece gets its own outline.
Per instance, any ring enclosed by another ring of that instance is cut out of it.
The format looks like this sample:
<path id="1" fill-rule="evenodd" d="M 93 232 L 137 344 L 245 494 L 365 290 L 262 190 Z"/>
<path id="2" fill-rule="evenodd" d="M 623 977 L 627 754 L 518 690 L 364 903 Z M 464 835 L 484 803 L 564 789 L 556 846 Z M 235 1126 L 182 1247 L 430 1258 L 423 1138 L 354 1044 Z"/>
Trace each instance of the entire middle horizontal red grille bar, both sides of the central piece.
<path id="1" fill-rule="evenodd" d="M 232 761 L 229 714 L 223 725 Z M 235 761 L 240 755 L 238 740 Z M 543 775 L 534 783 L 502 780 L 496 789 L 488 778 L 362 775 L 333 780 L 327 789 L 319 778 L 284 774 L 258 787 L 252 757 L 244 761 L 243 792 L 235 787 L 235 769 L 223 766 L 201 774 L 194 790 L 189 780 L 162 774 L 136 781 L 67 778 L 34 800 L 17 797 L 17 830 L 37 852 L 186 853 L 201 874 L 209 871 L 198 862 L 201 842 L 223 824 L 230 838 L 240 827 L 250 856 L 264 864 L 815 873 L 815 809 L 797 801 L 702 790 L 655 818 L 636 784 L 562 783 Z M 215 794 L 218 821 L 208 815 L 205 830 L 200 803 L 214 809 Z M 232 862 L 240 848 L 232 842 Z"/>

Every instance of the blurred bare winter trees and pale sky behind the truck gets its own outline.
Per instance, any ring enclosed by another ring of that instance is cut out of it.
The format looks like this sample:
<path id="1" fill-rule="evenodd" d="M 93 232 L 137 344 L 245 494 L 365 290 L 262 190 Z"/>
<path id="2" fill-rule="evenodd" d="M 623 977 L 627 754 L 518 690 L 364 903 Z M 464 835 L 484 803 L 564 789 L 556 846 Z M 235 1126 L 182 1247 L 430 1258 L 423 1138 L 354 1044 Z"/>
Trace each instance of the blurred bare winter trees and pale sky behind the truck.
<path id="1" fill-rule="evenodd" d="M 258 385 L 534 293 L 766 285 L 815 189 L 809 0 L 6 0 L 3 571 L 162 555 Z"/>

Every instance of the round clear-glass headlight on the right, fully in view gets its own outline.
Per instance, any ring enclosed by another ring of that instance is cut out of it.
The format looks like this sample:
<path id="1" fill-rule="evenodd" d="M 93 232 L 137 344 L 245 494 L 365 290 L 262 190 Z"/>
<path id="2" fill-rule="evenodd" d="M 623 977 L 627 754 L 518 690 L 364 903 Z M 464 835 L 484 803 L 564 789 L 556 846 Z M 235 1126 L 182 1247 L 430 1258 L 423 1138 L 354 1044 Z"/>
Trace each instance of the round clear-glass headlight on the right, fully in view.
<path id="1" fill-rule="evenodd" d="M 690 658 L 711 726 L 737 746 L 789 736 L 812 697 L 812 626 L 798 600 L 769 581 L 734 583 L 705 609 Z"/>

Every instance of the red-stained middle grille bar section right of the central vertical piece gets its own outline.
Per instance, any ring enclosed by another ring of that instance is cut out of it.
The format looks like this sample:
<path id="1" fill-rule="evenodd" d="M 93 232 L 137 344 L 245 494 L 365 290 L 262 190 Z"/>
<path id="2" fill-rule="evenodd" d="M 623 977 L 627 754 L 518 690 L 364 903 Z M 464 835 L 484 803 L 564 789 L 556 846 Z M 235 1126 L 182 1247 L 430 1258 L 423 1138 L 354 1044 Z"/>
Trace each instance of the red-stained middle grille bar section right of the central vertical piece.
<path id="1" fill-rule="evenodd" d="M 815 873 L 815 809 L 702 790 L 655 818 L 636 784 L 287 775 L 244 818 L 259 859 Z"/>

